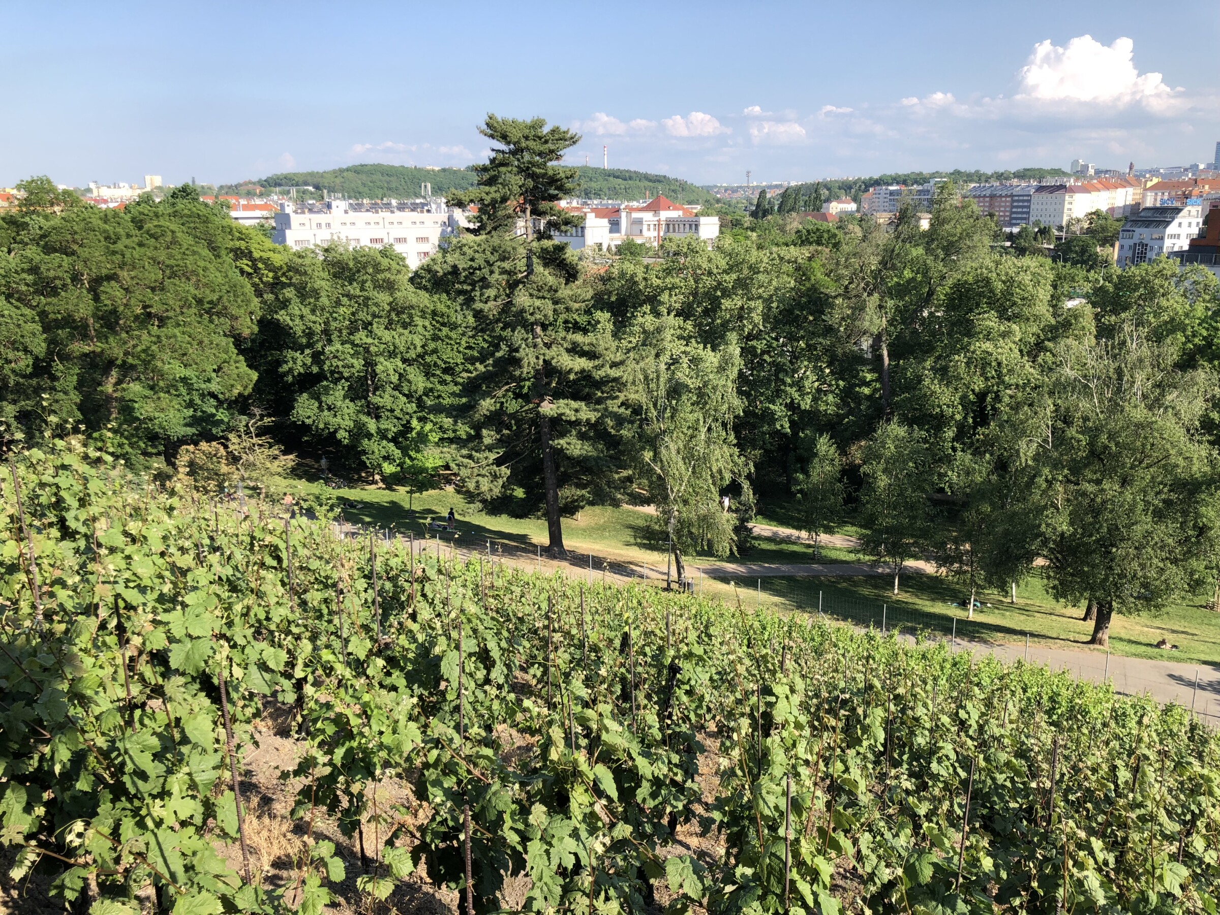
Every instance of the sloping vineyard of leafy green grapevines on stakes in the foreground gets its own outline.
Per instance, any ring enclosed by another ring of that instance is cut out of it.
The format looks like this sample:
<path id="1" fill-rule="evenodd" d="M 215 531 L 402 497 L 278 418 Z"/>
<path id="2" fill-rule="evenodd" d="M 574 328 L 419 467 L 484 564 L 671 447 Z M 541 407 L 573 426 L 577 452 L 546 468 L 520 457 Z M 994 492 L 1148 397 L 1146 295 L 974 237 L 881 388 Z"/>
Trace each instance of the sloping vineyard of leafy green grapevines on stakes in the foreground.
<path id="1" fill-rule="evenodd" d="M 76 911 L 1215 913 L 1220 739 L 1025 664 L 134 482 L 4 479 L 6 881 Z M 298 747 L 290 866 L 243 766 Z M 396 786 L 389 791 L 388 786 Z M 318 838 L 334 822 L 353 859 Z"/>

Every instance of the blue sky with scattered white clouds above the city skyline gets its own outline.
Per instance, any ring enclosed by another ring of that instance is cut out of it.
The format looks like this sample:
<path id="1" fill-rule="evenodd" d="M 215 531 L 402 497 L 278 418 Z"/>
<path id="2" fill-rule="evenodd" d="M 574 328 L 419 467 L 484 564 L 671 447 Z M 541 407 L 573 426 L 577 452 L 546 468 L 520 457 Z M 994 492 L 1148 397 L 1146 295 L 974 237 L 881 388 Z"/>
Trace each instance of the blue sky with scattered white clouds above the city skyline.
<path id="1" fill-rule="evenodd" d="M 1220 7 L 10 2 L 0 184 L 467 165 L 486 112 L 700 183 L 1210 161 Z"/>

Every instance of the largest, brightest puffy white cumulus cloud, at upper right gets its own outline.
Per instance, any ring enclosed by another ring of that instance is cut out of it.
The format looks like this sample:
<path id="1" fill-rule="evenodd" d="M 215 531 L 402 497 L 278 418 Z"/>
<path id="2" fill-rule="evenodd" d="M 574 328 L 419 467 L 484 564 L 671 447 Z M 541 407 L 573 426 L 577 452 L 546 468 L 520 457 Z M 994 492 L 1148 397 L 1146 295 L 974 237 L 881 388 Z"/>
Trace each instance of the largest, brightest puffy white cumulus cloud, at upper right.
<path id="1" fill-rule="evenodd" d="M 1171 89 L 1160 73 L 1139 73 L 1135 41 L 1119 38 L 1107 46 L 1092 35 L 1078 35 L 1060 48 L 1039 41 L 1017 77 L 1020 95 L 1037 101 L 1080 101 L 1164 107 L 1181 89 Z"/>

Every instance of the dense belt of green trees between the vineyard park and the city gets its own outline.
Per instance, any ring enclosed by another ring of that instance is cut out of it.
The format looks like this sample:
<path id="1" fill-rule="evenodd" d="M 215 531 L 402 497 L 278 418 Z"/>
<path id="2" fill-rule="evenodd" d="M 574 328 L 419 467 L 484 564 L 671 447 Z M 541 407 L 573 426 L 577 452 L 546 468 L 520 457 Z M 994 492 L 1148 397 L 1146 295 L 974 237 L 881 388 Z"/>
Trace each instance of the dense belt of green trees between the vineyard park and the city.
<path id="1" fill-rule="evenodd" d="M 582 259 L 549 240 L 578 138 L 484 133 L 490 160 L 453 192 L 478 226 L 415 272 L 390 249 L 277 248 L 190 187 L 99 210 L 27 182 L 0 217 L 9 434 L 78 431 L 157 473 L 270 437 L 545 516 L 556 554 L 565 516 L 645 501 L 680 577 L 684 551 L 747 549 L 758 499 L 814 534 L 849 506 L 895 589 L 920 555 L 969 588 L 1041 559 L 1102 644 L 1114 612 L 1211 593 L 1205 271 L 1115 270 L 1103 218 L 1076 256 L 1004 245 L 952 183 L 926 231 L 743 215 L 710 250 Z"/>

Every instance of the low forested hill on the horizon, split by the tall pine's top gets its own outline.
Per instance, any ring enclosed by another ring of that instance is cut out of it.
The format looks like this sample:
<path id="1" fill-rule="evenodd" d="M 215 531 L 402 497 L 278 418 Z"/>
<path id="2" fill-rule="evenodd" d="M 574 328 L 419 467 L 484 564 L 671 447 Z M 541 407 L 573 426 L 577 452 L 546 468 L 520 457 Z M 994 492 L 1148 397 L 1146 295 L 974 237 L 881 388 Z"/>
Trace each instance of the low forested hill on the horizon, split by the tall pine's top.
<path id="1" fill-rule="evenodd" d="M 597 200 L 639 200 L 664 194 L 677 204 L 714 204 L 706 190 L 681 178 L 651 174 L 630 168 L 594 168 L 578 166 L 580 195 Z M 475 172 L 470 168 L 417 168 L 405 165 L 349 165 L 325 172 L 279 172 L 254 182 L 227 184 L 223 194 L 264 193 L 271 188 L 312 187 L 353 199 L 416 198 L 420 184 L 429 182 L 432 193 L 445 195 L 473 187 Z"/>

